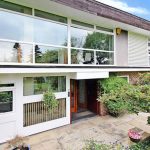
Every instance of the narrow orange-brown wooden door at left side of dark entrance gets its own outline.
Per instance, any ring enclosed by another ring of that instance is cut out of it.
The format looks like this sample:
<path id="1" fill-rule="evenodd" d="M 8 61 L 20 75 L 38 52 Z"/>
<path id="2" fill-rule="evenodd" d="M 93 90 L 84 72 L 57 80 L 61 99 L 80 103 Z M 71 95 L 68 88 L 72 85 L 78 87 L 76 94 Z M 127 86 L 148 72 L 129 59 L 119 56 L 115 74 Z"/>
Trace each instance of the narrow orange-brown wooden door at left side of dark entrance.
<path id="1" fill-rule="evenodd" d="M 71 113 L 77 112 L 77 80 L 70 80 L 70 109 Z"/>

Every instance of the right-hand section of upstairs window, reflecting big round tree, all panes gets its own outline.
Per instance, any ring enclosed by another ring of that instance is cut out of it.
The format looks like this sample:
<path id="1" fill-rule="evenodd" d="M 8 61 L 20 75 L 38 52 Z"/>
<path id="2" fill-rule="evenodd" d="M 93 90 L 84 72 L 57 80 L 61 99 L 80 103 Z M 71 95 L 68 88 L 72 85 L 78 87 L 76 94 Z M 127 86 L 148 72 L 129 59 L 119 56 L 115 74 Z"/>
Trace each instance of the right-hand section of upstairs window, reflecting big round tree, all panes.
<path id="1" fill-rule="evenodd" d="M 71 47 L 71 64 L 114 64 L 112 30 L 100 27 L 94 30 L 89 24 L 75 22 L 71 27 Z"/>

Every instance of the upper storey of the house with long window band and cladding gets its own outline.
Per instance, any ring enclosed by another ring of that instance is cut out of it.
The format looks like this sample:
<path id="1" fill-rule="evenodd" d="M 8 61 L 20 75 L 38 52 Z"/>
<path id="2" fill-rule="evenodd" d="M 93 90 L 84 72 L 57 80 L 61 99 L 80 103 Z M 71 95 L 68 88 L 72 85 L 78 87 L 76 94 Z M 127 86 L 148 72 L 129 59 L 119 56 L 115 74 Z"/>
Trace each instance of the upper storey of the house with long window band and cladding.
<path id="1" fill-rule="evenodd" d="M 121 24 L 123 30 L 117 35 L 119 24 L 95 22 L 89 14 L 86 21 L 76 19 L 76 14 L 61 16 L 59 7 L 50 13 L 43 6 L 33 9 L 33 4 L 18 2 L 0 1 L 1 64 L 149 65 L 148 35 L 134 34 Z"/>

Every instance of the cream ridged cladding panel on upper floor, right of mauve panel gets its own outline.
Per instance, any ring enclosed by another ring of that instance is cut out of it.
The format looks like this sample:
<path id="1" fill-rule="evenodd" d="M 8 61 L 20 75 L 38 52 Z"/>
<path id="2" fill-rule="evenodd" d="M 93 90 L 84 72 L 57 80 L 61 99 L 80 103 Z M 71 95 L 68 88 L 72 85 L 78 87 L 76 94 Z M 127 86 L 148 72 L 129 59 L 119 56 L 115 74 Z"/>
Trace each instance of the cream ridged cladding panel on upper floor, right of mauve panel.
<path id="1" fill-rule="evenodd" d="M 128 65 L 148 66 L 148 38 L 146 36 L 129 32 L 128 34 Z"/>

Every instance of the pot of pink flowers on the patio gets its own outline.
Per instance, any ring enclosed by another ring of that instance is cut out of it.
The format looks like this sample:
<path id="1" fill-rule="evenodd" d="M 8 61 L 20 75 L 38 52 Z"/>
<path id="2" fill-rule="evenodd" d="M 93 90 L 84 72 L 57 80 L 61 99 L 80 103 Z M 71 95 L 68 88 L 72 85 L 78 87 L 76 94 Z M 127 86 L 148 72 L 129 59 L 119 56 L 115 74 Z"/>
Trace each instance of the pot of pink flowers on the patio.
<path id="1" fill-rule="evenodd" d="M 129 130 L 128 136 L 132 142 L 138 143 L 141 140 L 141 134 L 138 131 L 132 129 Z"/>

